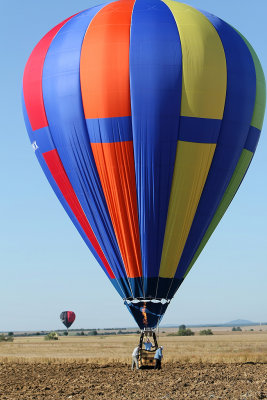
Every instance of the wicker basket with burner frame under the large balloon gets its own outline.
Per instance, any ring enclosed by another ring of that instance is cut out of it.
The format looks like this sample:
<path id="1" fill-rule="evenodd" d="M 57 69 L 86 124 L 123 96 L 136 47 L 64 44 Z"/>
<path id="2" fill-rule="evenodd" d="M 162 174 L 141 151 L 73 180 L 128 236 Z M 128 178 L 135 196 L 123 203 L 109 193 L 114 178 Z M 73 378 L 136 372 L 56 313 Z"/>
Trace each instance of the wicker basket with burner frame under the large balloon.
<path id="1" fill-rule="evenodd" d="M 151 348 L 148 350 L 147 341 L 151 343 Z M 155 367 L 155 353 L 158 348 L 157 335 L 155 330 L 145 328 L 141 331 L 139 339 L 139 368 L 141 369 L 152 369 Z"/>

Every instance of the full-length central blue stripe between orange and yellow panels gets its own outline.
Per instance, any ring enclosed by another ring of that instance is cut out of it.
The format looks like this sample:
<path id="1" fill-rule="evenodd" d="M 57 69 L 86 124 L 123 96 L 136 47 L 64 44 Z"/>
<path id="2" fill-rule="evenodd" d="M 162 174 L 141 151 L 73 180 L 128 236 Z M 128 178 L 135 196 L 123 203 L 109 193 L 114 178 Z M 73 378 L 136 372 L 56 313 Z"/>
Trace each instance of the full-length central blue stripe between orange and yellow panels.
<path id="1" fill-rule="evenodd" d="M 170 9 L 136 0 L 130 37 L 130 88 L 139 230 L 147 278 L 158 277 L 179 131 L 182 54 Z"/>

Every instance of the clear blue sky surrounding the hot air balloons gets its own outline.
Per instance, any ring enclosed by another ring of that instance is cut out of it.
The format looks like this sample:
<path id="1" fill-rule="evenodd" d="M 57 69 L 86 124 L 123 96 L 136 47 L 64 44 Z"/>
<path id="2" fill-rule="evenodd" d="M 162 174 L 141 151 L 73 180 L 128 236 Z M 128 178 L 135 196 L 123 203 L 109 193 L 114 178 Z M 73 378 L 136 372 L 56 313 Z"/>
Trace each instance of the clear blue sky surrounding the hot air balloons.
<path id="1" fill-rule="evenodd" d="M 266 0 L 188 0 L 243 33 L 267 75 Z M 100 1 L 99 1 L 100 3 Z M 134 326 L 51 190 L 21 112 L 22 75 L 41 37 L 92 0 L 1 4 L 0 331 Z M 162 323 L 267 321 L 267 121 L 243 185 Z M 101 288 L 102 296 L 98 296 Z"/>

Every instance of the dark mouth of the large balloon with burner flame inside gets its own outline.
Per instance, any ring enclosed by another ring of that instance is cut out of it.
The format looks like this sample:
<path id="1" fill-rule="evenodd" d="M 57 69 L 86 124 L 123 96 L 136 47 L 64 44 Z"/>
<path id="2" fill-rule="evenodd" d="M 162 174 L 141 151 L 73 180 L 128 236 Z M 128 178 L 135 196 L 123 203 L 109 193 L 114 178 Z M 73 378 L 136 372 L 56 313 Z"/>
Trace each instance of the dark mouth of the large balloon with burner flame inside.
<path id="1" fill-rule="evenodd" d="M 124 304 L 134 317 L 140 329 L 156 328 L 168 305 L 170 299 L 128 298 Z"/>

